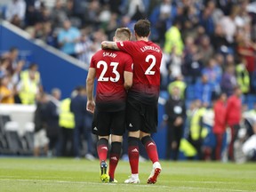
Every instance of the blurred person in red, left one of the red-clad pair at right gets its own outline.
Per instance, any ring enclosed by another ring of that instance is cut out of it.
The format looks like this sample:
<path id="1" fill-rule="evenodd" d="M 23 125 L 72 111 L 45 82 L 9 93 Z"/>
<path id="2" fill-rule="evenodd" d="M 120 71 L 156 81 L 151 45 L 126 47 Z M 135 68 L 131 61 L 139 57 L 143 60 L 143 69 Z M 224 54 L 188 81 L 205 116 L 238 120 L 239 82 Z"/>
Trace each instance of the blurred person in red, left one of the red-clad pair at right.
<path id="1" fill-rule="evenodd" d="M 213 104 L 214 122 L 212 132 L 215 134 L 216 146 L 215 146 L 215 160 L 221 159 L 221 149 L 224 141 L 224 134 L 226 132 L 226 101 L 227 94 L 222 92 L 220 97 Z"/>

